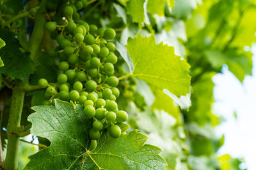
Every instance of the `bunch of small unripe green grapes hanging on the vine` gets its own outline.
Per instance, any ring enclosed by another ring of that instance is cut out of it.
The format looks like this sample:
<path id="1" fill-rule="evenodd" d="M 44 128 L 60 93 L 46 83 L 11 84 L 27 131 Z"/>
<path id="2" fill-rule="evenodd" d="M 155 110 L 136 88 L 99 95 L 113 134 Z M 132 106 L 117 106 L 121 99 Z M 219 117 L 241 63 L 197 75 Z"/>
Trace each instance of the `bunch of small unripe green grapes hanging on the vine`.
<path id="1" fill-rule="evenodd" d="M 118 110 L 116 104 L 116 98 L 120 96 L 119 81 L 115 76 L 118 57 L 115 44 L 110 41 L 116 32 L 111 28 L 98 29 L 83 20 L 71 20 L 74 13 L 83 8 L 83 2 L 69 2 L 62 11 L 63 20 L 46 22 L 45 29 L 58 43 L 47 53 L 58 56 L 60 74 L 56 83 L 40 78 L 38 85 L 45 89 L 44 105 L 54 104 L 52 99 L 59 98 L 84 106 L 83 117 L 93 119 L 89 131 L 93 146 L 104 129 L 112 138 L 118 138 L 121 134 L 118 125 L 125 122 L 128 115 Z"/>

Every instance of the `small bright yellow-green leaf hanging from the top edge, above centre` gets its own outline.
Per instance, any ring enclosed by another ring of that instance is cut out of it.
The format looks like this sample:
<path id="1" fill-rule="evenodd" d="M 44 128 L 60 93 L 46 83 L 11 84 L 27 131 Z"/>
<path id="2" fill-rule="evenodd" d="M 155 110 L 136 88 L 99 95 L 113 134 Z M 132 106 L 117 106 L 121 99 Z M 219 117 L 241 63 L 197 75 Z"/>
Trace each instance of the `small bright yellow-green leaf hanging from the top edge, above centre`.
<path id="1" fill-rule="evenodd" d="M 144 8 L 143 4 L 145 0 L 130 0 L 127 3 L 127 14 L 132 16 L 132 22 L 136 22 L 141 25 L 144 22 L 145 15 L 144 15 Z"/>

